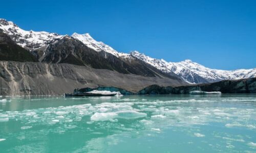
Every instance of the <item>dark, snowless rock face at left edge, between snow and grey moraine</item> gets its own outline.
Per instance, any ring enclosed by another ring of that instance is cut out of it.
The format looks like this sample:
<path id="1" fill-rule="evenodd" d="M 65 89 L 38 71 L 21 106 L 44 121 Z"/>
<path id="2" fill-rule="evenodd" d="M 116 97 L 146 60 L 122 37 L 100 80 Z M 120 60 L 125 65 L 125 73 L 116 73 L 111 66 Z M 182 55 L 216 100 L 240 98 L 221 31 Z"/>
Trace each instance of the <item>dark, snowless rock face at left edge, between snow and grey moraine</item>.
<path id="1" fill-rule="evenodd" d="M 36 58 L 26 49 L 14 43 L 0 31 L 0 61 L 36 62 Z"/>

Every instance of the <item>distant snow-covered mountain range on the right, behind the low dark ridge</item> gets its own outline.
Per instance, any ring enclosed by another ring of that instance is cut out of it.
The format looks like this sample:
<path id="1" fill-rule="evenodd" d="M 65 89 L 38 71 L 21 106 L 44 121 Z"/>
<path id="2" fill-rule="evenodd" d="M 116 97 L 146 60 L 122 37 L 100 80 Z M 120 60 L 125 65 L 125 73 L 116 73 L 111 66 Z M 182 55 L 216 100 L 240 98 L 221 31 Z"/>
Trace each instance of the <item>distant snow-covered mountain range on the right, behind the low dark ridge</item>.
<path id="1" fill-rule="evenodd" d="M 154 59 L 137 51 L 131 52 L 134 58 L 142 60 L 163 72 L 174 72 L 189 83 L 210 83 L 221 80 L 237 80 L 256 77 L 256 68 L 238 70 L 210 69 L 191 60 L 181 62 L 166 62 Z"/>

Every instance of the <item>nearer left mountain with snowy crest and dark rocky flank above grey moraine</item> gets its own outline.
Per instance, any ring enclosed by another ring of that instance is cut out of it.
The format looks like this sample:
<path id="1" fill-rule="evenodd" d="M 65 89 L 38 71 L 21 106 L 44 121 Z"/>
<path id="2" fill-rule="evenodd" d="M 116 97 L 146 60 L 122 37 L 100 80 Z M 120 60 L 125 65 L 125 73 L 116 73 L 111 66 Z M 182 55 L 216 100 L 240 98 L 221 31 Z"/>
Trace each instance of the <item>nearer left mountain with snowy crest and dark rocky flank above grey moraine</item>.
<path id="1" fill-rule="evenodd" d="M 24 31 L 5 19 L 0 19 L 0 29 L 18 45 L 28 49 L 42 63 L 84 65 L 125 74 L 167 77 L 184 82 L 174 73 L 166 74 L 128 54 L 118 53 L 112 47 L 95 41 L 89 34 L 74 33 L 71 37 L 55 33 Z"/>

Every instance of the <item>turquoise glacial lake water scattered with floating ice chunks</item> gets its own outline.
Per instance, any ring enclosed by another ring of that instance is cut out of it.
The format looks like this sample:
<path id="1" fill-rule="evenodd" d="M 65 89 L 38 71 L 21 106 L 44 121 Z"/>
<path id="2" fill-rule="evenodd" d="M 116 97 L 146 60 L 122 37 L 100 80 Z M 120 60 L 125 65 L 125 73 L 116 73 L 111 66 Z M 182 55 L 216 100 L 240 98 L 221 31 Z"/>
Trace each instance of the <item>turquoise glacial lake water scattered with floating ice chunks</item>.
<path id="1" fill-rule="evenodd" d="M 256 95 L 0 97 L 0 152 L 256 152 Z"/>

